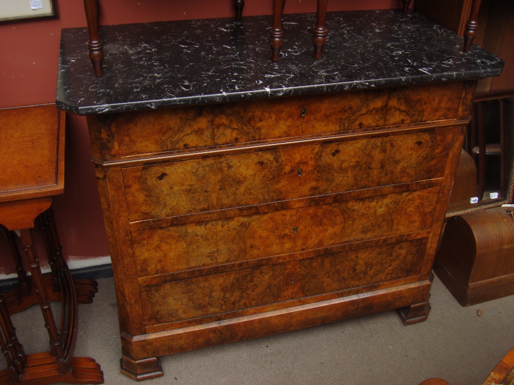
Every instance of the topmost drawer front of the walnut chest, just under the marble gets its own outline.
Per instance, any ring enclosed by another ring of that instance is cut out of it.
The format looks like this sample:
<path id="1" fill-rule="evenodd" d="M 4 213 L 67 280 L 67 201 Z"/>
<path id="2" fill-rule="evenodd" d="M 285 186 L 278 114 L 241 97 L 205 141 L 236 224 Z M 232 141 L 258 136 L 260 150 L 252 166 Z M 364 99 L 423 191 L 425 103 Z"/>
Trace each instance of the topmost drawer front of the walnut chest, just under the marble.
<path id="1" fill-rule="evenodd" d="M 462 83 L 116 114 L 120 157 L 454 120 Z"/>

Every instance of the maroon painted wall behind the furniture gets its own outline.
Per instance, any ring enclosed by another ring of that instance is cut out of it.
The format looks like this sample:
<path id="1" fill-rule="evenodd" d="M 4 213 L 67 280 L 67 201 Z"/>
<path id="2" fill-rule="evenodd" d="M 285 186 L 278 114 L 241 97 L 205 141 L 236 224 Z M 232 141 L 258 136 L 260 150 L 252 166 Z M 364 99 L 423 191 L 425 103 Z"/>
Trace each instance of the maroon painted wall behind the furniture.
<path id="1" fill-rule="evenodd" d="M 0 25 L 0 108 L 52 103 L 56 96 L 59 40 L 62 28 L 86 25 L 80 0 L 58 0 L 60 17 Z M 399 8 L 400 0 L 332 0 L 329 11 Z M 246 0 L 244 15 L 271 14 L 271 0 Z M 100 0 L 100 23 L 126 24 L 233 16 L 231 0 Z M 315 12 L 315 0 L 289 0 L 286 13 Z M 86 49 L 84 45 L 84 49 Z M 54 209 L 69 261 L 108 255 L 107 241 L 84 117 L 69 115 L 65 194 Z M 36 155 L 35 155 L 36 156 Z M 0 245 L 0 278 L 14 273 L 7 248 Z"/>

